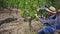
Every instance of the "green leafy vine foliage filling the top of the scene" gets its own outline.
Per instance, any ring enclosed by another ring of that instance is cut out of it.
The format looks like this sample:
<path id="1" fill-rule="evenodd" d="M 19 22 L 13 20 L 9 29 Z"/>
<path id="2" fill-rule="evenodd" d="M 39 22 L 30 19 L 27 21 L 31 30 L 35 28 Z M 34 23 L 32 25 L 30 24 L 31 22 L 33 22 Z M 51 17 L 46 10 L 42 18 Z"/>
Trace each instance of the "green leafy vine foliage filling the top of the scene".
<path id="1" fill-rule="evenodd" d="M 22 17 L 35 18 L 36 9 L 42 6 L 54 6 L 56 9 L 60 9 L 60 0 L 0 0 L 1 8 L 17 8 L 21 10 Z M 39 12 L 43 14 L 45 12 Z"/>

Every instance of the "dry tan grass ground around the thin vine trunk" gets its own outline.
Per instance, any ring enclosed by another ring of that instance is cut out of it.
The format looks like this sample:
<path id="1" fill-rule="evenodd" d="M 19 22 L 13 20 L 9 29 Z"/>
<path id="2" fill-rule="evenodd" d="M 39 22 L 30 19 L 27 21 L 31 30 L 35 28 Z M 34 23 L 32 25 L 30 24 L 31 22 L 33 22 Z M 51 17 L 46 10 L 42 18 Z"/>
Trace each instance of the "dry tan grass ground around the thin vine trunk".
<path id="1" fill-rule="evenodd" d="M 30 32 L 28 24 L 29 22 L 24 22 L 21 19 L 19 21 L 14 21 L 11 23 L 5 23 L 0 26 L 0 33 L 1 34 L 36 34 L 38 29 L 42 27 L 39 22 L 32 21 L 32 32 Z"/>

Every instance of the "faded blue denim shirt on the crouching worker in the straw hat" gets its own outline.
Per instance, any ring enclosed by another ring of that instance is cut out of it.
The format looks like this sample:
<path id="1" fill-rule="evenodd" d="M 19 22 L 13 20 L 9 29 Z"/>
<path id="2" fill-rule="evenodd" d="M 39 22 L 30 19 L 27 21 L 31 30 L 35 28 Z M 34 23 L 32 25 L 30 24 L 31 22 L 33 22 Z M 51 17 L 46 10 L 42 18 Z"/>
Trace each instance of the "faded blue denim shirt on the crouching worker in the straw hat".
<path id="1" fill-rule="evenodd" d="M 56 16 L 49 16 L 48 18 L 47 18 L 47 20 L 43 20 L 42 18 L 38 18 L 38 20 L 41 22 L 41 23 L 48 23 L 48 24 L 50 24 L 51 25 L 51 27 L 55 30 L 56 29 L 56 27 L 55 27 L 55 24 L 56 24 L 56 22 L 55 22 L 55 17 Z M 53 19 L 54 18 L 54 19 Z"/>

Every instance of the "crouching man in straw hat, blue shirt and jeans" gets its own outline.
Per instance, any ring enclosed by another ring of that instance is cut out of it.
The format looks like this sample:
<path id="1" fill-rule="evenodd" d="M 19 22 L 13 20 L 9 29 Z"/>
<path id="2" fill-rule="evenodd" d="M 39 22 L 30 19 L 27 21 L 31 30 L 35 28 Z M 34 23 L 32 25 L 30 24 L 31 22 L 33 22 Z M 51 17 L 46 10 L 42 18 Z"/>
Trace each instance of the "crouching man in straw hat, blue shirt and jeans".
<path id="1" fill-rule="evenodd" d="M 51 9 L 51 10 L 49 10 Z M 46 26 L 44 26 L 41 30 L 38 31 L 38 34 L 54 34 L 55 31 L 55 18 L 52 16 L 55 11 L 54 7 L 49 7 L 49 9 L 45 8 L 45 10 L 48 11 L 48 19 L 47 20 L 43 20 L 42 18 L 39 18 L 36 14 L 36 17 L 38 18 L 38 20 L 43 23 L 43 24 L 47 24 Z M 53 11 L 53 12 L 52 12 Z M 54 19 L 53 19 L 54 18 Z"/>

